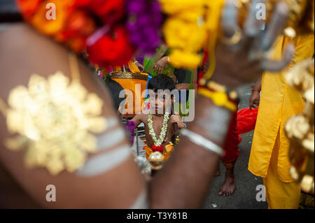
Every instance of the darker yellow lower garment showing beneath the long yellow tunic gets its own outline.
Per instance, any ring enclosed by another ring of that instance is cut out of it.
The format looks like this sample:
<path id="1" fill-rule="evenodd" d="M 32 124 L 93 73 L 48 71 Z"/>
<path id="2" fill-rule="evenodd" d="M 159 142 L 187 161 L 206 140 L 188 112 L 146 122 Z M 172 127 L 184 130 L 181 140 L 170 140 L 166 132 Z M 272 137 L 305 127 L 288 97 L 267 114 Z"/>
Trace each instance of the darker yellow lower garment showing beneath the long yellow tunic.
<path id="1" fill-rule="evenodd" d="M 263 178 L 269 209 L 297 209 L 300 203 L 300 186 L 297 182 L 282 182 L 277 173 L 280 134 L 276 137 L 267 177 Z"/>

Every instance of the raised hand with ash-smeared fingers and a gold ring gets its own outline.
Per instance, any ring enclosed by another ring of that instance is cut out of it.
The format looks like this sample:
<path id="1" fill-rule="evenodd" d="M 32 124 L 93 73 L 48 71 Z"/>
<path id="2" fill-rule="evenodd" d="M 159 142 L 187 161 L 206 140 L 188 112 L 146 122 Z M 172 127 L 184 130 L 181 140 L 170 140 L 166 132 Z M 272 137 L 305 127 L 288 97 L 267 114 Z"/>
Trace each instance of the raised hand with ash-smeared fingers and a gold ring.
<path id="1" fill-rule="evenodd" d="M 277 3 L 268 29 L 260 31 L 264 21 L 255 17 L 259 2 L 252 1 L 243 30 L 237 23 L 235 1 L 227 0 L 223 9 L 223 41 L 216 48 L 216 71 L 212 79 L 230 88 L 251 83 L 264 71 L 281 71 L 293 58 L 295 46 L 288 44 L 281 60 L 266 59 L 265 55 L 286 26 L 288 5 L 283 1 Z"/>

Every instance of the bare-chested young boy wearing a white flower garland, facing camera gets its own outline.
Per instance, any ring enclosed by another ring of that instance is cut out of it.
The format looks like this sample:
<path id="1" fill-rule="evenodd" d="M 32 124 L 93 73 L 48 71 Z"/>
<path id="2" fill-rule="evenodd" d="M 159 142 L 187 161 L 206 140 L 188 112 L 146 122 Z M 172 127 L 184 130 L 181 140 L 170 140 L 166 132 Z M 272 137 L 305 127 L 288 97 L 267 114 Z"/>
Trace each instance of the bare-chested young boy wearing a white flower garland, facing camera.
<path id="1" fill-rule="evenodd" d="M 166 75 L 156 75 L 148 83 L 150 113 L 141 113 L 132 119 L 136 127 L 141 122 L 144 123 L 147 142 L 144 149 L 147 159 L 152 152 L 158 151 L 164 154 L 166 161 L 172 152 L 172 146 L 169 146 L 174 134 L 172 124 L 177 123 L 179 129 L 185 127 L 180 115 L 170 115 L 170 112 L 167 111 L 167 108 L 174 102 L 174 96 L 169 94 L 174 89 L 175 83 L 172 78 Z M 160 91 L 163 91 L 164 94 L 161 94 Z"/>

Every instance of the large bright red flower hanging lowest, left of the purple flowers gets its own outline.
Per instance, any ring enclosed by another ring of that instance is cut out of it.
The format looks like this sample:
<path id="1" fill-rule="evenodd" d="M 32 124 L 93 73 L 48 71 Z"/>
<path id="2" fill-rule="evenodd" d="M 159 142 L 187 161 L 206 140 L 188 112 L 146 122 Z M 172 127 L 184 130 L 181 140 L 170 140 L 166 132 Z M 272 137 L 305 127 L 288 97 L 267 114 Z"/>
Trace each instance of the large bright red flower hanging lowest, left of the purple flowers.
<path id="1" fill-rule="evenodd" d="M 90 61 L 103 67 L 127 64 L 134 55 L 134 48 L 129 42 L 125 27 L 118 25 L 111 31 L 106 31 L 106 27 L 102 29 L 87 40 Z M 104 34 L 100 34 L 100 31 Z"/>

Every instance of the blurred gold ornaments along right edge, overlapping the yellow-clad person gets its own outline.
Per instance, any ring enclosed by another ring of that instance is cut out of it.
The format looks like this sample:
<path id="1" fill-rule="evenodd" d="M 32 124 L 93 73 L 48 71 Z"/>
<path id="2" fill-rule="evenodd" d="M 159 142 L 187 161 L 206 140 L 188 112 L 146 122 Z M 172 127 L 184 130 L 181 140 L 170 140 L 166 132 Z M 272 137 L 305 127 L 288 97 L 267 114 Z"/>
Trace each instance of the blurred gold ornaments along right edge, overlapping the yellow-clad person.
<path id="1" fill-rule="evenodd" d="M 290 175 L 305 192 L 314 194 L 314 59 L 295 65 L 286 74 L 286 82 L 298 89 L 305 101 L 304 112 L 286 123 L 290 139 Z"/>

